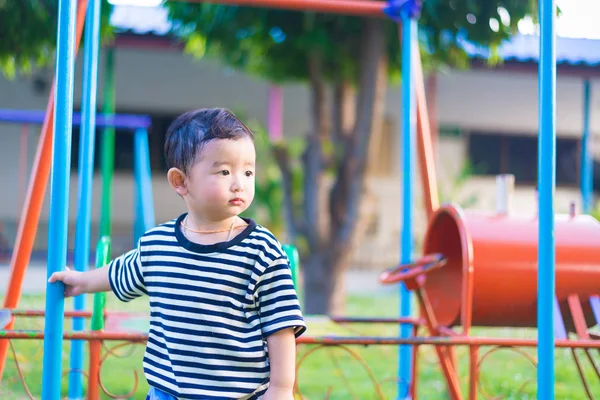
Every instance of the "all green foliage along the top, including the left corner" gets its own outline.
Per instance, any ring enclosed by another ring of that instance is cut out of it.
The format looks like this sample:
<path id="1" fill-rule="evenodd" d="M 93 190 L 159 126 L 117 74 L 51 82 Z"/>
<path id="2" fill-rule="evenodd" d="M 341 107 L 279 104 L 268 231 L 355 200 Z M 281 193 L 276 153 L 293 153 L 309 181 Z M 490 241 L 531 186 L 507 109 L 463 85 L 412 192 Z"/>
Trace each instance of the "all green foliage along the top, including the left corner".
<path id="1" fill-rule="evenodd" d="M 286 10 L 167 2 L 174 33 L 197 56 L 218 56 L 225 63 L 273 82 L 308 78 L 307 59 L 318 54 L 330 81 L 352 81 L 358 75 L 361 18 Z M 535 17 L 536 0 L 424 0 L 420 38 L 425 69 L 440 65 L 468 66 L 459 39 L 497 47 L 516 32 L 523 17 Z M 102 1 L 102 37 L 112 35 L 111 6 Z M 0 70 L 7 77 L 53 62 L 56 47 L 57 0 L 0 0 Z M 509 18 L 507 18 L 507 16 Z M 490 19 L 498 29 L 490 29 Z M 397 25 L 383 20 L 388 34 L 390 76 L 400 76 Z"/>

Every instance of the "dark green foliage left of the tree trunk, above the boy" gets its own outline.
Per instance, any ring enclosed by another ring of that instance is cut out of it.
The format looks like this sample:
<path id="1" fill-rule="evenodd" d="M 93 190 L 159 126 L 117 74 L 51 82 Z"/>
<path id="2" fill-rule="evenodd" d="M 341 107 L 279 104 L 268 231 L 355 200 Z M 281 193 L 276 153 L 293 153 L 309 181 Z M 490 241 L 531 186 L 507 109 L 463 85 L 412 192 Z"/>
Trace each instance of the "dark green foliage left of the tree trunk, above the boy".
<path id="1" fill-rule="evenodd" d="M 306 79 L 308 55 L 315 53 L 329 78 L 356 76 L 358 18 L 206 3 L 167 6 L 175 33 L 197 57 L 219 56 L 231 66 L 282 82 Z"/>

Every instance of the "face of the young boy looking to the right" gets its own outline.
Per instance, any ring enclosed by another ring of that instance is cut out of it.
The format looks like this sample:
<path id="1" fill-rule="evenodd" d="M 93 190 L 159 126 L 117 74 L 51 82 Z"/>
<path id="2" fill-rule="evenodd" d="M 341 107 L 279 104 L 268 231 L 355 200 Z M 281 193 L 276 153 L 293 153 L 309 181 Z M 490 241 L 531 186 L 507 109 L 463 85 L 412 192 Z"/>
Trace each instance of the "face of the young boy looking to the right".
<path id="1" fill-rule="evenodd" d="M 187 174 L 188 207 L 220 221 L 244 212 L 254 199 L 256 150 L 248 137 L 208 142 Z"/>

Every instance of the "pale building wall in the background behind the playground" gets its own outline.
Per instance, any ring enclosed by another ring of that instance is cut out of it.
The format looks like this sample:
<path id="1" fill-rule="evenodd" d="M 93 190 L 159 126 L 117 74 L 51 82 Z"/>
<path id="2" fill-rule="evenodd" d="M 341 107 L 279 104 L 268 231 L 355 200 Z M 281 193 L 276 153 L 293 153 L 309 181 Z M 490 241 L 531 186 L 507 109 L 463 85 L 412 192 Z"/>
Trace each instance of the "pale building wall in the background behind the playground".
<path id="1" fill-rule="evenodd" d="M 104 58 L 101 57 L 101 62 Z M 79 60 L 80 61 L 80 60 Z M 80 99 L 80 69 L 78 62 L 75 102 Z M 103 76 L 100 72 L 99 87 Z M 51 71 L 38 73 L 50 82 Z M 225 106 L 243 109 L 250 117 L 264 121 L 266 113 L 267 83 L 257 78 L 245 76 L 215 62 L 193 60 L 173 50 L 149 51 L 121 48 L 116 52 L 117 107 L 128 112 L 170 112 L 180 113 L 205 106 Z M 537 74 L 506 73 L 492 70 L 449 71 L 439 75 L 438 105 L 439 124 L 458 126 L 465 129 L 481 129 L 530 133 L 537 132 Z M 309 97 L 301 84 L 288 85 L 284 91 L 284 129 L 287 135 L 302 135 L 309 128 Z M 35 93 L 29 77 L 7 81 L 0 77 L 0 108 L 37 109 L 46 106 L 48 92 Z M 593 103 L 597 108 L 600 102 L 600 84 L 593 86 Z M 102 92 L 98 94 L 98 104 L 102 104 Z M 400 111 L 400 88 L 392 87 L 387 96 L 387 112 L 398 118 Z M 582 127 L 582 82 L 573 77 L 559 77 L 557 93 L 557 131 L 560 135 L 580 135 Z M 592 114 L 592 132 L 600 131 L 600 118 Z M 32 128 L 33 129 L 33 128 Z M 37 144 L 39 127 L 30 135 L 28 161 L 31 165 Z M 0 188 L 5 193 L 0 198 L 0 220 L 15 220 L 20 212 L 19 179 L 19 132 L 20 127 L 0 124 Z M 397 148 L 398 145 L 395 144 Z M 600 149 L 596 152 L 600 155 Z M 443 139 L 438 148 L 440 179 L 449 181 L 454 162 L 464 157 L 464 143 L 460 140 Z M 398 243 L 395 236 L 399 232 L 400 181 L 374 180 L 370 191 L 375 193 L 373 204 L 391 210 L 382 218 L 387 218 L 386 232 L 390 243 Z M 493 190 L 493 179 L 473 180 L 465 190 Z M 100 186 L 94 184 L 93 221 L 99 218 Z M 117 174 L 115 177 L 114 218 L 128 224 L 133 220 L 133 180 L 130 175 Z M 381 194 L 386 193 L 385 196 Z M 493 193 L 493 192 L 490 192 Z M 531 190 L 519 188 L 518 203 L 523 211 L 532 212 L 534 203 Z M 418 194 L 419 195 L 419 194 Z M 482 207 L 493 205 L 493 196 L 484 195 Z M 565 209 L 565 202 L 576 197 L 576 191 L 558 190 L 558 209 Z M 381 199 L 386 202 L 381 203 Z M 71 185 L 71 218 L 76 215 L 77 179 Z M 530 199 L 531 201 L 521 201 Z M 183 204 L 169 189 L 164 176 L 154 178 L 154 200 L 157 221 L 165 221 L 183 211 Z M 418 200 L 419 202 L 420 200 Z M 42 220 L 48 218 L 48 201 L 42 212 Z M 391 222 L 390 222 L 391 221 Z M 397 222 L 394 222 L 397 221 Z M 422 219 L 420 221 L 423 221 Z M 418 225 L 422 226 L 422 223 Z"/>

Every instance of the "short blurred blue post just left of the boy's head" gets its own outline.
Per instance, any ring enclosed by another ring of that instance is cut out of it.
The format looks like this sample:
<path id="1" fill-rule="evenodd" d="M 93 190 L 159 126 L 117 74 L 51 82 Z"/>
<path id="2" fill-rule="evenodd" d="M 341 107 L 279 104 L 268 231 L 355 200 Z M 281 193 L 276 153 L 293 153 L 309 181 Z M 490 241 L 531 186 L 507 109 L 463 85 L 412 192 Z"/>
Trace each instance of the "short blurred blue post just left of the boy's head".
<path id="1" fill-rule="evenodd" d="M 150 149 L 146 129 L 135 131 L 133 148 L 136 188 L 134 244 L 137 244 L 144 232 L 155 226 Z"/>

